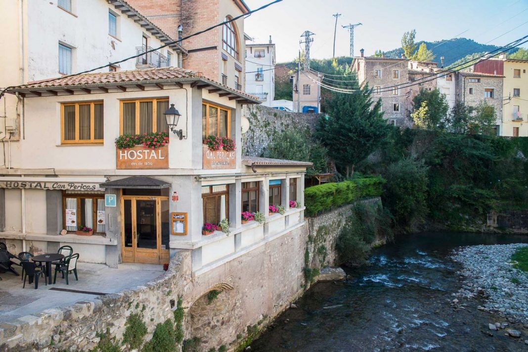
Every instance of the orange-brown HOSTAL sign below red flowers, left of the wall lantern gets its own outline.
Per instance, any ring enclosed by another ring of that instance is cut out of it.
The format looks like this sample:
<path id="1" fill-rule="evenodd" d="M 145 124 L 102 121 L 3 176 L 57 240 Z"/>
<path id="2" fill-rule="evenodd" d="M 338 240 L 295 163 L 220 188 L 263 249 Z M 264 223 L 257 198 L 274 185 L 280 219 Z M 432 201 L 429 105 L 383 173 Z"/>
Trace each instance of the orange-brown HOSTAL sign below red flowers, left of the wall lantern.
<path id="1" fill-rule="evenodd" d="M 155 149 L 136 145 L 133 148 L 116 148 L 116 168 L 120 170 L 168 169 L 168 146 Z"/>

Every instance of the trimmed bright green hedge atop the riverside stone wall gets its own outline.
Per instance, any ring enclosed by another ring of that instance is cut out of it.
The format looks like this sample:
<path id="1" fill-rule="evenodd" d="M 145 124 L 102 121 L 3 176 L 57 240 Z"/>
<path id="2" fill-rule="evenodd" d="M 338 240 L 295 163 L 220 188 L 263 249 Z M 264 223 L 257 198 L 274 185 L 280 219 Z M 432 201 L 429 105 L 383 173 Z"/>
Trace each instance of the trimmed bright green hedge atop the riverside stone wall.
<path id="1" fill-rule="evenodd" d="M 306 215 L 311 217 L 361 198 L 378 197 L 384 183 L 385 179 L 375 176 L 309 187 L 304 191 Z"/>

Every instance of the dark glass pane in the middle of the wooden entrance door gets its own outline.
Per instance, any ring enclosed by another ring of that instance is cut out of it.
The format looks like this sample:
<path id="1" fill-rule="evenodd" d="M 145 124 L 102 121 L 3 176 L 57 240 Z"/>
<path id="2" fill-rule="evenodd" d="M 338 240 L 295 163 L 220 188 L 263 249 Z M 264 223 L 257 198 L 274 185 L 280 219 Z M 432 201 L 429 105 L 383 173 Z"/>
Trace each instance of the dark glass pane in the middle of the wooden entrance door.
<path id="1" fill-rule="evenodd" d="M 136 200 L 137 248 L 157 249 L 156 201 Z"/>

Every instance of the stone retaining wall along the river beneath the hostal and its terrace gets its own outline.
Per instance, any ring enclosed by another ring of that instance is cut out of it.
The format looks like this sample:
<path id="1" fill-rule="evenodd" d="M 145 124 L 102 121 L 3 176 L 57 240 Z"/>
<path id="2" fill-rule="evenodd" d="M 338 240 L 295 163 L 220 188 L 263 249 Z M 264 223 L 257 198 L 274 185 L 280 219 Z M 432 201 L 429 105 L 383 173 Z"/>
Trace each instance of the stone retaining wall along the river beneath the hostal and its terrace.
<path id="1" fill-rule="evenodd" d="M 157 324 L 174 321 L 178 297 L 185 313 L 184 338 L 200 338 L 199 351 L 245 346 L 309 287 L 307 266 L 336 265 L 335 242 L 352 207 L 310 218 L 199 276 L 191 274 L 191 252 L 182 250 L 171 259 L 167 272 L 143 286 L 0 324 L 0 352 L 89 350 L 107 329 L 120 348 L 129 351 L 128 345 L 121 346 L 127 318 L 140 315 L 148 331 L 145 343 Z"/>

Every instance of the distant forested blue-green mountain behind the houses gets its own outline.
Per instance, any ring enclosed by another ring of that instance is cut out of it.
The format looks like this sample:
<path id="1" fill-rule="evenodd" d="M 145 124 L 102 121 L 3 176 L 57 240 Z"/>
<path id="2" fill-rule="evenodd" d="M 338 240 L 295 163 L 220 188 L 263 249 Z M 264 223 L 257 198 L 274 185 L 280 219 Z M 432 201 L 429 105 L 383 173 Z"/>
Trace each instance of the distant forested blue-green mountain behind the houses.
<path id="1" fill-rule="evenodd" d="M 435 54 L 435 62 L 440 63 L 440 56 L 444 56 L 444 66 L 449 66 L 467 55 L 490 52 L 499 47 L 496 45 L 480 44 L 467 38 L 453 38 L 438 42 L 417 42 L 416 47 L 418 48 L 421 43 L 426 43 L 427 48 Z M 517 48 L 514 48 L 508 53 L 514 53 L 517 50 Z M 384 52 L 386 57 L 400 57 L 401 54 L 403 54 L 401 47 Z"/>

